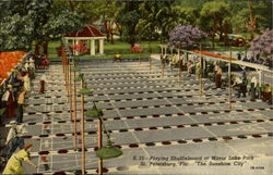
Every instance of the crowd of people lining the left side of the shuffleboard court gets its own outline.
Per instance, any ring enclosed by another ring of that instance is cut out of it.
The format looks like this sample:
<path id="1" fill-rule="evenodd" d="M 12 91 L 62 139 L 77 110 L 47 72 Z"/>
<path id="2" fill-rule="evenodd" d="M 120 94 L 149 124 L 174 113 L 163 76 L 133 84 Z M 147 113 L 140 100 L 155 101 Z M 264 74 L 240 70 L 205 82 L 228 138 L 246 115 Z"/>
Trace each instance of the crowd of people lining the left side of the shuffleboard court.
<path id="1" fill-rule="evenodd" d="M 46 68 L 49 61 L 47 57 L 35 57 L 24 60 L 20 66 L 16 67 L 10 75 L 9 79 L 5 80 L 5 84 L 2 85 L 4 92 L 0 95 L 0 107 L 5 109 L 4 116 L 7 120 L 12 120 L 10 122 L 9 133 L 4 142 L 7 148 L 5 155 L 1 158 L 5 167 L 2 174 L 25 174 L 22 162 L 26 162 L 29 165 L 37 168 L 31 159 L 29 152 L 32 145 L 25 143 L 23 135 L 26 134 L 25 125 L 23 124 L 23 114 L 24 108 L 27 105 L 25 103 L 25 98 L 31 95 L 32 83 L 31 79 L 35 78 L 36 68 Z M 37 58 L 39 58 L 37 61 Z M 44 59 L 43 59 L 44 58 Z M 35 60 L 35 61 L 34 61 Z M 45 82 L 46 75 L 40 77 L 40 89 L 39 93 L 45 92 Z M 1 120 L 4 117 L 1 116 Z M 19 151 L 16 152 L 16 150 Z M 2 152 L 3 153 L 3 152 Z"/>

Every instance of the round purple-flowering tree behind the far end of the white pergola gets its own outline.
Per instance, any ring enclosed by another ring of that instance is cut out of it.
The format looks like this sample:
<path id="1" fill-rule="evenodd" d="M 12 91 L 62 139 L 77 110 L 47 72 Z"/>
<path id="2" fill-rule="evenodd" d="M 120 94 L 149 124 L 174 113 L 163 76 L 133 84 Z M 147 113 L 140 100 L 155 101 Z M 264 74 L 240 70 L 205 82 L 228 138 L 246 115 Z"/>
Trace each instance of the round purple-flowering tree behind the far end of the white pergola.
<path id="1" fill-rule="evenodd" d="M 189 49 L 197 45 L 206 34 L 192 25 L 177 25 L 174 30 L 169 33 L 169 43 L 171 46 L 182 45 Z"/>

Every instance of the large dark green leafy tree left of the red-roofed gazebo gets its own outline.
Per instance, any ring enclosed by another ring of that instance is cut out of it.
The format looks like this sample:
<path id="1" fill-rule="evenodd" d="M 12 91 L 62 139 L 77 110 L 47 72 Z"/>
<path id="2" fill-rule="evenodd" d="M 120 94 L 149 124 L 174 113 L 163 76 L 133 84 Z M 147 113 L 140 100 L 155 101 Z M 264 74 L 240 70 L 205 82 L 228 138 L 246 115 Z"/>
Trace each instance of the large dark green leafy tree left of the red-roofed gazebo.
<path id="1" fill-rule="evenodd" d="M 44 43 L 47 54 L 48 41 L 59 39 L 62 35 L 74 32 L 81 23 L 81 15 L 51 0 L 3 1 L 0 3 L 1 51 L 29 51 L 36 41 L 35 53 Z"/>

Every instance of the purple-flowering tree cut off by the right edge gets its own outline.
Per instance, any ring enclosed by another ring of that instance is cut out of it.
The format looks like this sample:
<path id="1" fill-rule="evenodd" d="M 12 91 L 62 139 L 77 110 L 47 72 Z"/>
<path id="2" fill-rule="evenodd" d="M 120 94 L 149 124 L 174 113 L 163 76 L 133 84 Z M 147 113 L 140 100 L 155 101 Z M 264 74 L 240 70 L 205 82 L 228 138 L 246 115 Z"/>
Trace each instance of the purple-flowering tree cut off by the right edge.
<path id="1" fill-rule="evenodd" d="M 250 42 L 250 51 L 253 57 L 273 58 L 273 29 L 265 29 L 260 37 Z M 271 60 L 272 61 L 272 60 Z"/>

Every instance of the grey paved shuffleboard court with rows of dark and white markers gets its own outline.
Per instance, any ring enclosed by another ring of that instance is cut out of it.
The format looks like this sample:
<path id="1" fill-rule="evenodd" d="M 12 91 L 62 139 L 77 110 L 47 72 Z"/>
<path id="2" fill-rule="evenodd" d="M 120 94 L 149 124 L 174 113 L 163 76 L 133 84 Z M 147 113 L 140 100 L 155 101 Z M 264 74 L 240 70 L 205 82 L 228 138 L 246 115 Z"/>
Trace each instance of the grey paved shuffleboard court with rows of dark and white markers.
<path id="1" fill-rule="evenodd" d="M 179 86 L 176 71 L 168 70 L 162 77 L 158 61 L 153 63 L 152 70 L 149 62 L 80 64 L 87 87 L 94 89 L 94 95 L 85 98 L 85 108 L 96 101 L 104 109 L 105 125 L 123 151 L 120 158 L 105 160 L 106 174 L 270 174 L 272 105 L 233 97 L 229 110 L 226 89 L 210 88 L 213 84 L 204 79 L 206 90 L 199 96 L 194 76 L 183 73 Z M 54 84 L 47 85 L 45 95 L 38 95 L 41 73 L 37 73 L 24 115 L 28 128 L 25 142 L 34 143 L 32 159 L 39 165 L 37 171 L 26 165 L 27 172 L 79 172 L 81 152 L 73 150 L 73 123 L 61 65 L 50 65 L 45 72 Z M 80 128 L 80 111 L 78 115 Z M 88 173 L 95 173 L 97 166 L 96 134 L 97 121 L 87 118 Z"/>

